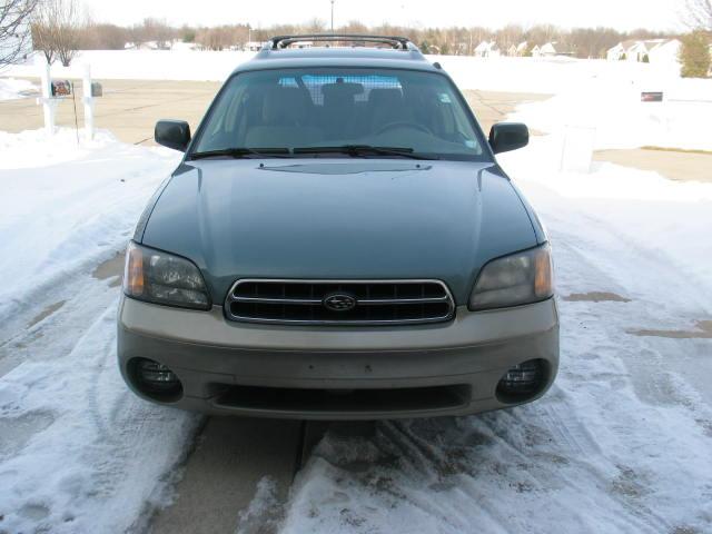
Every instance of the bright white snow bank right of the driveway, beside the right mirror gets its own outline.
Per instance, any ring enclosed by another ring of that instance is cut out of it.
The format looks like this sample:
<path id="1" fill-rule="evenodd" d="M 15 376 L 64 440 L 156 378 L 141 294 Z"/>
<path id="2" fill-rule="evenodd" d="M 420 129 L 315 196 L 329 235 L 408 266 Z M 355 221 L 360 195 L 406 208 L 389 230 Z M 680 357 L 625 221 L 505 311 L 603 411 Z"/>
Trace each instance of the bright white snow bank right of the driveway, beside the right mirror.
<path id="1" fill-rule="evenodd" d="M 671 285 L 666 299 L 684 308 L 685 303 L 698 303 L 700 294 L 712 296 L 712 240 L 706 237 L 712 228 L 712 184 L 679 182 L 605 162 L 594 162 L 590 174 L 561 172 L 560 148 L 553 136 L 534 138 L 526 149 L 498 158 L 511 176 L 523 181 L 532 199 L 542 199 L 540 204 L 551 214 L 545 221 L 554 218 L 565 226 L 564 215 L 557 211 L 561 205 L 575 202 L 591 225 L 603 220 L 617 238 L 629 239 L 631 246 L 646 250 L 650 260 L 672 269 L 664 281 Z M 581 239 L 592 231 L 582 228 Z M 612 247 L 611 243 L 609 255 L 615 263 Z M 660 290 L 660 279 L 640 276 L 636 269 L 622 269 L 616 276 L 629 291 L 654 295 Z M 676 290 L 671 290 L 672 285 Z"/>

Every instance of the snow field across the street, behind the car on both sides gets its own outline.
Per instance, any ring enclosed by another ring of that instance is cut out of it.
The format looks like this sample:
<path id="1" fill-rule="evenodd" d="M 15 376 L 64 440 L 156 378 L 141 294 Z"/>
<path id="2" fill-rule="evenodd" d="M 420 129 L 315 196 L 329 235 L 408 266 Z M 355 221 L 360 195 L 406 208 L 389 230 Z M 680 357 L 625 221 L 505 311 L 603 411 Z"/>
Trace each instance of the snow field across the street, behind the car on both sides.
<path id="1" fill-rule="evenodd" d="M 81 78 L 90 63 L 97 79 L 225 80 L 255 56 L 241 51 L 92 50 L 55 78 Z M 40 58 L 41 59 L 41 58 Z M 553 58 L 428 56 L 463 89 L 552 95 L 526 111 L 530 126 L 561 134 L 567 126 L 596 129 L 595 148 L 661 146 L 712 149 L 712 80 L 680 78 L 674 62 Z M 37 77 L 38 65 L 13 66 L 12 76 Z M 641 102 L 641 92 L 663 91 L 662 103 Z M 514 117 L 516 118 L 516 116 Z"/>

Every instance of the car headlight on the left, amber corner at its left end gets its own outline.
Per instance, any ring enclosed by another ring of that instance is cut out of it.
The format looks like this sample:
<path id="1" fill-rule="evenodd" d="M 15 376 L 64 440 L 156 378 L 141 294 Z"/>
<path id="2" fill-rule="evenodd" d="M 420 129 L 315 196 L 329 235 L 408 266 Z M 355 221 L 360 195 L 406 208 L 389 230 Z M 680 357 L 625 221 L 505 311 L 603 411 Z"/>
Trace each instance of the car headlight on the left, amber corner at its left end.
<path id="1" fill-rule="evenodd" d="M 129 243 L 126 251 L 123 293 L 147 303 L 181 308 L 209 309 L 202 275 L 191 261 Z"/>

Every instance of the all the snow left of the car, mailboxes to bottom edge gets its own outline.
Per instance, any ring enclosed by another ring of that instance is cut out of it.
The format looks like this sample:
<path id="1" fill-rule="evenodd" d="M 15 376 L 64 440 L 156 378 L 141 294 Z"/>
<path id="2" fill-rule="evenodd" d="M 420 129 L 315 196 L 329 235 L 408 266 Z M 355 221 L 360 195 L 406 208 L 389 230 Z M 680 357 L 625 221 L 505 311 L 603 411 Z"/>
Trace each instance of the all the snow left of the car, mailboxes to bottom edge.
<path id="1" fill-rule="evenodd" d="M 197 419 L 128 392 L 117 288 L 91 271 L 177 158 L 72 130 L 3 134 L 0 154 L 0 532 L 125 532 L 166 504 Z"/>

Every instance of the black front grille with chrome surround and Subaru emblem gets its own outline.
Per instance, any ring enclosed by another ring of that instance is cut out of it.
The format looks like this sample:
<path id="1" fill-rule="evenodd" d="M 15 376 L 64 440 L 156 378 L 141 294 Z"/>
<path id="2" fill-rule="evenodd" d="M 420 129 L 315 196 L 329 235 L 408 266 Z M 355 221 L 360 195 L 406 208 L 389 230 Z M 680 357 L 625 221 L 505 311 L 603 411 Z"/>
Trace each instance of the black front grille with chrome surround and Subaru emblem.
<path id="1" fill-rule="evenodd" d="M 438 280 L 260 280 L 235 283 L 231 320 L 290 325 L 413 325 L 449 320 L 455 303 Z"/>

